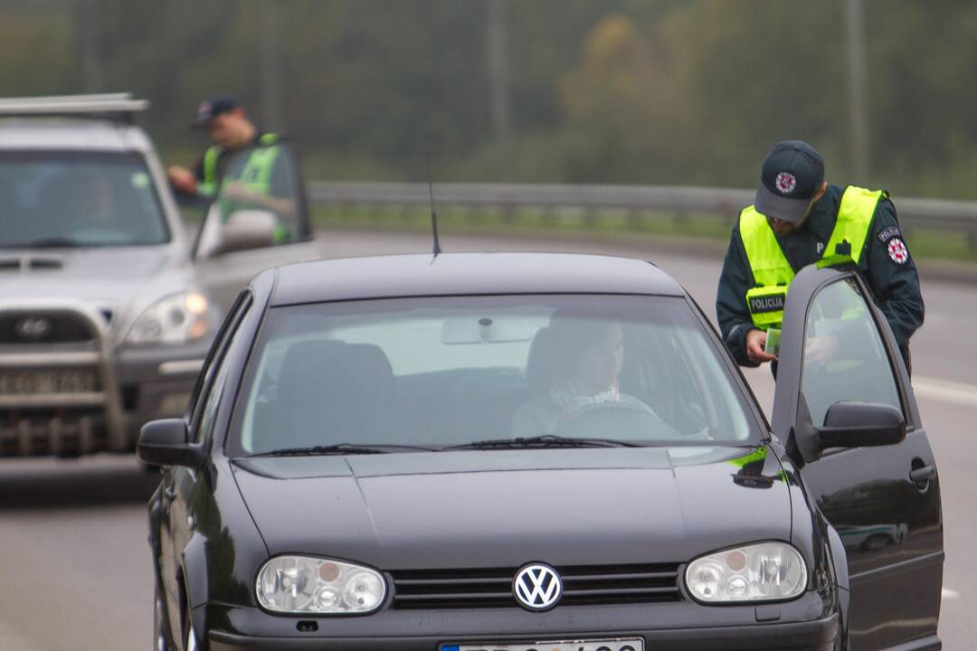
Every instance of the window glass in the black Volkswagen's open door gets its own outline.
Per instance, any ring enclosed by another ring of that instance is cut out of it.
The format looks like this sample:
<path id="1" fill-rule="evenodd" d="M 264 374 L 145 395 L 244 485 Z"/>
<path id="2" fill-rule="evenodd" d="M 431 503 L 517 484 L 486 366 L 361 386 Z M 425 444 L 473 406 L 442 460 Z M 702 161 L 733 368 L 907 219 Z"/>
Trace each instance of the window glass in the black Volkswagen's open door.
<path id="1" fill-rule="evenodd" d="M 851 278 L 826 285 L 811 302 L 803 355 L 801 395 L 815 427 L 824 426 L 828 408 L 839 401 L 903 410 L 870 306 Z"/>

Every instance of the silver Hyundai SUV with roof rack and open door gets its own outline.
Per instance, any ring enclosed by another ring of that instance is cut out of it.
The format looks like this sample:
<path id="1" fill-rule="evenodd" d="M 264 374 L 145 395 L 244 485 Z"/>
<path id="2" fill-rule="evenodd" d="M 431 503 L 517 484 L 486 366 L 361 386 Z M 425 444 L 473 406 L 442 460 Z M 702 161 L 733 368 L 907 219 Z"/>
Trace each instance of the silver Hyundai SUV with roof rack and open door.
<path id="1" fill-rule="evenodd" d="M 135 124 L 147 107 L 0 100 L 0 456 L 133 450 L 146 421 L 184 413 L 247 279 L 319 257 L 286 142 L 286 208 L 219 195 L 193 235 Z"/>

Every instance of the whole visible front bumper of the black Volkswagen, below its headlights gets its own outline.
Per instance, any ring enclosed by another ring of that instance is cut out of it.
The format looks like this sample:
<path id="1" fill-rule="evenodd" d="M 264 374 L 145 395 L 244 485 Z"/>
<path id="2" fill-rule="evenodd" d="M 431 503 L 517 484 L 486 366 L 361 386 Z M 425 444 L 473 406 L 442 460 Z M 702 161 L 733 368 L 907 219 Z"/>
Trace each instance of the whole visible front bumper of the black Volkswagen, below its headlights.
<path id="1" fill-rule="evenodd" d="M 205 649 L 438 651 L 442 644 L 534 643 L 641 637 L 645 651 L 833 651 L 841 634 L 831 594 L 807 592 L 761 606 L 668 603 L 519 608 L 381 610 L 362 617 L 275 616 L 216 604 L 192 611 Z M 570 649 L 569 651 L 573 651 Z"/>

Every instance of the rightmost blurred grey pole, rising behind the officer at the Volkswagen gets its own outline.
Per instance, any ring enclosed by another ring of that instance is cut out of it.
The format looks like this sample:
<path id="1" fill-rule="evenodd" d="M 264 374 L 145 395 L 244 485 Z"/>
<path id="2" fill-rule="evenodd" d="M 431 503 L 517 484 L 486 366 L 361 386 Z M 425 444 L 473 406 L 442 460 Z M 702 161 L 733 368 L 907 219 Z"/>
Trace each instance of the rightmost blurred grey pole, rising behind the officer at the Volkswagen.
<path id="1" fill-rule="evenodd" d="M 845 0 L 848 26 L 848 111 L 851 125 L 851 174 L 855 183 L 869 175 L 869 114 L 866 110 L 865 4 Z"/>

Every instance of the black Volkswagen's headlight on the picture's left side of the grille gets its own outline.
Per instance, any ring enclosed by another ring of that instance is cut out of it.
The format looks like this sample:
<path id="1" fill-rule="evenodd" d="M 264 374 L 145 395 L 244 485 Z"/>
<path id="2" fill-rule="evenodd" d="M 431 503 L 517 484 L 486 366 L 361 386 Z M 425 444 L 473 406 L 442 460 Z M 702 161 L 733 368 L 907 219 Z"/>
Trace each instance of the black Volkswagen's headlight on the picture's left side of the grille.
<path id="1" fill-rule="evenodd" d="M 258 572 L 258 602 L 276 613 L 353 615 L 376 610 L 387 595 L 380 573 L 328 558 L 277 556 Z"/>

